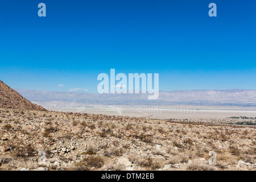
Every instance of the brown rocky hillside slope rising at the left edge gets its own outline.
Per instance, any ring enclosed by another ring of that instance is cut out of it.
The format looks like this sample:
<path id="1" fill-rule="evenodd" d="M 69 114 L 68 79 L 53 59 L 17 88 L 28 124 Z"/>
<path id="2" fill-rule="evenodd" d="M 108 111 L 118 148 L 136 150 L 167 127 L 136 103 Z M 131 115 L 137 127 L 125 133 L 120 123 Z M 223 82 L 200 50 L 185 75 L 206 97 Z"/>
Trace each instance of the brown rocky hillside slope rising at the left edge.
<path id="1" fill-rule="evenodd" d="M 0 108 L 47 111 L 42 106 L 32 104 L 2 81 L 0 81 Z"/>

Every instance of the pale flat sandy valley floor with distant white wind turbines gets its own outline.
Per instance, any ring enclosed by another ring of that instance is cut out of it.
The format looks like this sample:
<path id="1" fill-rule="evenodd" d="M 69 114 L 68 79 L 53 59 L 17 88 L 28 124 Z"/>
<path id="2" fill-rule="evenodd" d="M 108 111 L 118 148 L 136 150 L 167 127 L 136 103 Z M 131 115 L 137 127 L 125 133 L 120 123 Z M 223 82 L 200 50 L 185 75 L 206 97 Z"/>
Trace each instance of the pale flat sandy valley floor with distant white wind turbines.
<path id="1" fill-rule="evenodd" d="M 80 108 L 80 109 L 77 109 Z M 256 117 L 255 107 L 236 106 L 73 106 L 48 107 L 51 111 L 122 115 L 159 119 L 223 119 L 228 117 Z"/>

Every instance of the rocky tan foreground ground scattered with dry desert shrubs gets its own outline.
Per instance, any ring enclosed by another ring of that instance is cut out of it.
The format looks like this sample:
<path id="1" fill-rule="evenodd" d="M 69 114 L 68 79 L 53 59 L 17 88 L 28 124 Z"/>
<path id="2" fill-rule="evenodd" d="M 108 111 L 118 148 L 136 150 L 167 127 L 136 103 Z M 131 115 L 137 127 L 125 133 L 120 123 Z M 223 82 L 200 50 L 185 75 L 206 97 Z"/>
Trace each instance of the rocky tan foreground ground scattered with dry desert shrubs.
<path id="1" fill-rule="evenodd" d="M 255 170 L 255 127 L 236 125 L 248 122 L 0 109 L 0 169 Z"/>

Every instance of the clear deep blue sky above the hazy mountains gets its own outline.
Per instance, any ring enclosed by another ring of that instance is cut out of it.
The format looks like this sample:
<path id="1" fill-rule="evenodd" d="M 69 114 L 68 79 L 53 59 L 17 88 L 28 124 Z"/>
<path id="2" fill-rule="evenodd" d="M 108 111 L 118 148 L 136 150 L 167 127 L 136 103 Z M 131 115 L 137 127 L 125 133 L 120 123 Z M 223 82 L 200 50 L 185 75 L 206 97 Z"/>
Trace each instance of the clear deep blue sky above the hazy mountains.
<path id="1" fill-rule="evenodd" d="M 0 26 L 0 80 L 12 88 L 96 93 L 115 68 L 159 73 L 165 91 L 256 89 L 255 0 L 10 0 Z"/>

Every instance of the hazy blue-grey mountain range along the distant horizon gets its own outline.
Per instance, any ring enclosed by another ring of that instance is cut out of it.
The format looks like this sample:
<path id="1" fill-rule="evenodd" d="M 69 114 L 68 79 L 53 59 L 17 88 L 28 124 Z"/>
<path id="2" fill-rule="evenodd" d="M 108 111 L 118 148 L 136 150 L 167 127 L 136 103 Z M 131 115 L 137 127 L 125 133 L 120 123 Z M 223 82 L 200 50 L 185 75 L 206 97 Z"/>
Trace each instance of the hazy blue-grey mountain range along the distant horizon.
<path id="1" fill-rule="evenodd" d="M 256 106 L 256 90 L 174 90 L 159 92 L 158 100 L 148 100 L 148 94 L 95 94 L 84 92 L 50 92 L 15 89 L 34 102 L 81 102 L 119 105 L 236 105 Z"/>

